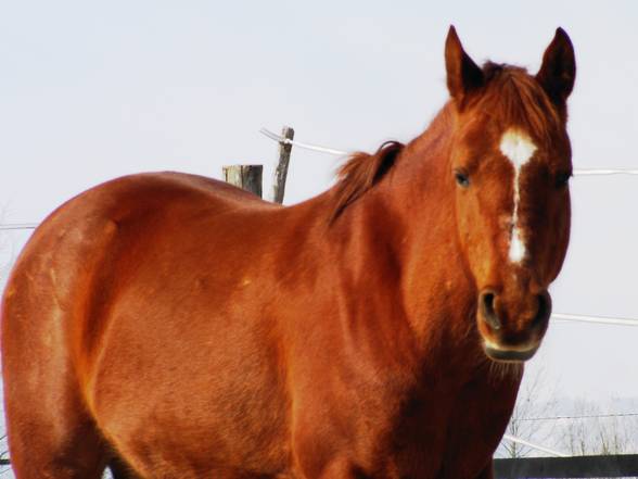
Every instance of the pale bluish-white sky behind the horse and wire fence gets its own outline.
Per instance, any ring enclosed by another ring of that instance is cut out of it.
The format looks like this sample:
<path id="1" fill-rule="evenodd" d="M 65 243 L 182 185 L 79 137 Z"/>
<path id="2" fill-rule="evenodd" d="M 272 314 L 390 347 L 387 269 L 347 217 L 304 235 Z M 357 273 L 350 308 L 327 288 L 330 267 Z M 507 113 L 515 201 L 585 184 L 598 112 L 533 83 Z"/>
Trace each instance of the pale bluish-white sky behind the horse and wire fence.
<path id="1" fill-rule="evenodd" d="M 3 1 L 0 223 L 37 223 L 125 174 L 219 177 L 263 163 L 257 131 L 372 150 L 424 129 L 447 98 L 443 46 L 536 72 L 557 26 L 576 50 L 576 168 L 638 168 L 638 2 Z M 293 148 L 286 203 L 333 181 L 339 159 Z M 265 191 L 269 191 L 267 181 Z M 638 318 L 638 177 L 572 181 L 554 312 Z M 0 231 L 3 263 L 28 232 Z M 531 368 L 570 398 L 638 396 L 638 328 L 553 323 Z"/>

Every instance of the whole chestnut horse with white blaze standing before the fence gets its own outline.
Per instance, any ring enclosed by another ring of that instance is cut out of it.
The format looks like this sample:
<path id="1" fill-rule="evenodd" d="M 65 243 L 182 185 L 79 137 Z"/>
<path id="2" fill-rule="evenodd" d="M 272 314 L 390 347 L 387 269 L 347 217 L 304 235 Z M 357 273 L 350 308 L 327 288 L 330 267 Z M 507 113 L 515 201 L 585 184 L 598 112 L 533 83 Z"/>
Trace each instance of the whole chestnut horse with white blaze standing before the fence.
<path id="1" fill-rule="evenodd" d="M 559 28 L 478 66 L 407 144 L 281 206 L 138 174 L 54 211 L 2 302 L 18 479 L 492 478 L 569 243 Z"/>

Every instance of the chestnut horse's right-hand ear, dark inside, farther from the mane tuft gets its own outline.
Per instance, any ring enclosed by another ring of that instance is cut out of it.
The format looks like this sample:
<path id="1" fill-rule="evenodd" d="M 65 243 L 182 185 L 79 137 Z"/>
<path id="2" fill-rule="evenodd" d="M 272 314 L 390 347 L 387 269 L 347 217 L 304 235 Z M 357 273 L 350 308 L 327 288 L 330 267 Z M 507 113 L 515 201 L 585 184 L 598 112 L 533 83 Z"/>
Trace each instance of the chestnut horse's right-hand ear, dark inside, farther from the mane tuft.
<path id="1" fill-rule="evenodd" d="M 557 28 L 553 40 L 545 54 L 536 79 L 543 86 L 550 100 L 563 109 L 565 100 L 574 88 L 576 78 L 576 60 L 572 40 L 562 28 Z"/>

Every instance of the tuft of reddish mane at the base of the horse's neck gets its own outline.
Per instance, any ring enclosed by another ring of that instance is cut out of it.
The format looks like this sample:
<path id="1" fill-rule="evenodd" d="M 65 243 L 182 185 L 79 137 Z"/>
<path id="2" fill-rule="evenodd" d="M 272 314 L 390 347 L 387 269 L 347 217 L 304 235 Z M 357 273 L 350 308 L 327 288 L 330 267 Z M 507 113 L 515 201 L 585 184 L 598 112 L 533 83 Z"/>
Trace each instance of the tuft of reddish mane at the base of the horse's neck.
<path id="1" fill-rule="evenodd" d="M 374 154 L 359 151 L 349 156 L 337 171 L 330 223 L 385 176 L 403 148 L 398 141 L 386 141 Z"/>

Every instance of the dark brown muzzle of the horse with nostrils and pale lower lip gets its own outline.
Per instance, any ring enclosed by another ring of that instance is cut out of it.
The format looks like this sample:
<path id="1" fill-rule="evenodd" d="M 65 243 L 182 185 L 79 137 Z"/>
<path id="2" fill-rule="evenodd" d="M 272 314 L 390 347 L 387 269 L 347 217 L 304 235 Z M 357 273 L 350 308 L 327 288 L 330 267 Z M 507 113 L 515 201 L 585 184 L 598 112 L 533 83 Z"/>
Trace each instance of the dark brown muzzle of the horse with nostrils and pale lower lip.
<path id="1" fill-rule="evenodd" d="M 507 298 L 493 289 L 478 294 L 477 323 L 483 350 L 494 361 L 523 362 L 540 345 L 551 315 L 551 297 L 518 294 Z"/>

